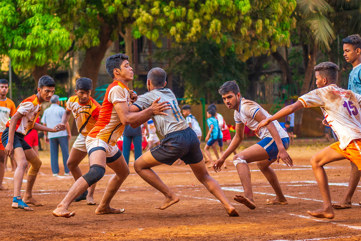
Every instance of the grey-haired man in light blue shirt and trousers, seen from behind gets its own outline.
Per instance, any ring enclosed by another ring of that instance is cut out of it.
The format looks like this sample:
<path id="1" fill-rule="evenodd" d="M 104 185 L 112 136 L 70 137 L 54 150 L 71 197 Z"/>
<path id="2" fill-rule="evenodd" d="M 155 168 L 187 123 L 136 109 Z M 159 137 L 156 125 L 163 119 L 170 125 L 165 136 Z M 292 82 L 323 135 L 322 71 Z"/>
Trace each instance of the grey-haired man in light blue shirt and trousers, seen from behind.
<path id="1" fill-rule="evenodd" d="M 51 106 L 45 109 L 41 122 L 48 126 L 49 128 L 53 128 L 57 124 L 61 123 L 61 117 L 65 112 L 65 109 L 59 106 L 59 96 L 53 95 L 50 99 Z M 64 164 L 64 175 L 69 176 L 70 170 L 66 165 L 66 162 L 69 158 L 69 144 L 68 141 L 71 137 L 69 123 L 66 122 L 66 130 L 56 132 L 56 133 L 47 133 L 44 132 L 45 141 L 50 143 L 50 163 L 51 170 L 53 172 L 53 176 L 59 175 L 59 145 L 61 148 L 61 153 L 63 156 L 63 164 Z"/>

